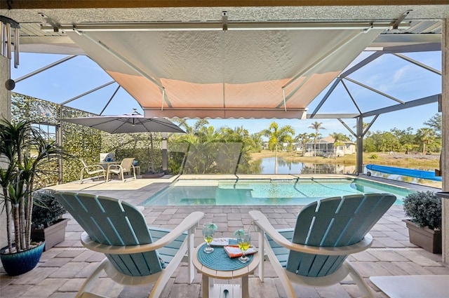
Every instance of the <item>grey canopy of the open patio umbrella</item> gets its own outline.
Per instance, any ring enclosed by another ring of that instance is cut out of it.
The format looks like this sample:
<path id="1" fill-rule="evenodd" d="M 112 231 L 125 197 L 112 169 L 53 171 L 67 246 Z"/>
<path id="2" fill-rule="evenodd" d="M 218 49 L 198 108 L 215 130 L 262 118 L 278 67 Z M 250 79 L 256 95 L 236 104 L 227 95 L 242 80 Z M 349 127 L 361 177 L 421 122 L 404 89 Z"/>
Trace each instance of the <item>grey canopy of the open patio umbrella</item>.
<path id="1" fill-rule="evenodd" d="M 164 118 L 145 118 L 139 114 L 65 118 L 62 121 L 96 128 L 107 133 L 185 133 L 182 128 Z"/>

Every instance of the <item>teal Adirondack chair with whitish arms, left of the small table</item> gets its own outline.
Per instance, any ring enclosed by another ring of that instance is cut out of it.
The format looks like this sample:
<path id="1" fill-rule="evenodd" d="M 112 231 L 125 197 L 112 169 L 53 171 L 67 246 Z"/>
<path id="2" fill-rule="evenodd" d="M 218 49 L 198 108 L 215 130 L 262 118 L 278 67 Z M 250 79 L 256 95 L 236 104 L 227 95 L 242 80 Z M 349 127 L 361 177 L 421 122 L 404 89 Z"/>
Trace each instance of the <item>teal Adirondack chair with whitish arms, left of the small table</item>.
<path id="1" fill-rule="evenodd" d="M 159 297 L 186 253 L 192 283 L 194 233 L 203 212 L 192 212 L 175 229 L 168 230 L 148 227 L 138 208 L 115 198 L 71 192 L 57 192 L 55 198 L 84 229 L 81 243 L 106 255 L 76 298 L 102 297 L 91 290 L 103 270 L 122 285 L 154 283 L 149 297 Z"/>

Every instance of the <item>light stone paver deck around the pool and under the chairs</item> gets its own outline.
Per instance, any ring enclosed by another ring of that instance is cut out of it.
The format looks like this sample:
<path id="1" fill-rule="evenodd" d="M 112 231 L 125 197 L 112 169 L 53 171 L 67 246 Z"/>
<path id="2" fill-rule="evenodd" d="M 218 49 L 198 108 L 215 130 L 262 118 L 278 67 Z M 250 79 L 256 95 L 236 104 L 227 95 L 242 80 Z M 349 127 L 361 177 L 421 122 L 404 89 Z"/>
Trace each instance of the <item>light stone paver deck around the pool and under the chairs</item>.
<path id="1" fill-rule="evenodd" d="M 64 184 L 57 188 L 67 191 L 83 191 L 92 194 L 102 194 L 128 201 L 135 205 L 145 201 L 156 193 L 173 177 L 157 182 L 128 181 L 122 182 L 87 182 L 83 184 Z M 425 188 L 418 187 L 421 190 Z M 190 212 L 200 210 L 205 213 L 203 222 L 215 222 L 219 229 L 217 237 L 232 236 L 232 232 L 242 226 L 250 225 L 250 210 L 260 210 L 269 218 L 276 228 L 292 227 L 297 213 L 302 206 L 147 206 L 144 210 L 148 224 L 172 228 Z M 449 267 L 441 262 L 441 255 L 434 255 L 408 242 L 408 231 L 402 222 L 404 218 L 401 205 L 394 205 L 373 227 L 374 237 L 372 248 L 365 252 L 351 255 L 349 259 L 356 269 L 375 290 L 376 297 L 387 297 L 373 283 L 369 276 L 403 276 L 403 275 L 449 275 Z M 0 297 L 33 297 L 33 298 L 69 298 L 75 297 L 88 274 L 95 268 L 103 255 L 86 250 L 81 246 L 79 236 L 81 228 L 74 220 L 70 220 L 66 231 L 66 240 L 55 248 L 43 252 L 38 266 L 22 276 L 9 277 L 0 268 Z M 256 237 L 253 237 L 257 240 Z M 197 229 L 195 245 L 203 242 L 201 230 Z M 257 245 L 257 241 L 255 245 Z M 266 278 L 261 283 L 256 272 L 250 276 L 250 297 L 274 298 L 286 297 L 279 278 L 275 275 L 269 262 L 266 261 Z M 161 297 L 201 297 L 201 275 L 196 274 L 192 284 L 187 283 L 187 266 L 182 264 L 163 290 Z M 232 283 L 238 280 L 232 280 Z M 225 280 L 220 280 L 224 283 Z M 152 285 L 139 287 L 123 287 L 112 283 L 107 278 L 101 278 L 95 292 L 106 297 L 148 297 Z M 357 297 L 358 287 L 347 278 L 340 285 L 332 287 L 301 287 L 294 285 L 297 297 L 333 298 Z"/>

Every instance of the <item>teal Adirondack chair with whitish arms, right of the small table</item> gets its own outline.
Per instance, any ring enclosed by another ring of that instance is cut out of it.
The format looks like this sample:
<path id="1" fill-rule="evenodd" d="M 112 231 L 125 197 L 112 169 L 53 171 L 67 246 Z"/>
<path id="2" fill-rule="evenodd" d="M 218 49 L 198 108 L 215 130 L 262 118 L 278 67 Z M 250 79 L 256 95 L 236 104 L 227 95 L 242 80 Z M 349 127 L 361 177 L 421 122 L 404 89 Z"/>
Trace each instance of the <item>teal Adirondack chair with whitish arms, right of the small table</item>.
<path id="1" fill-rule="evenodd" d="M 370 247 L 373 237 L 368 231 L 394 201 L 391 194 L 325 198 L 301 210 L 295 229 L 276 230 L 262 212 L 249 214 L 258 227 L 260 250 L 269 257 L 288 297 L 296 297 L 292 283 L 329 286 L 350 274 L 363 297 L 374 298 L 373 290 L 347 257 Z M 262 282 L 263 271 L 261 262 Z"/>

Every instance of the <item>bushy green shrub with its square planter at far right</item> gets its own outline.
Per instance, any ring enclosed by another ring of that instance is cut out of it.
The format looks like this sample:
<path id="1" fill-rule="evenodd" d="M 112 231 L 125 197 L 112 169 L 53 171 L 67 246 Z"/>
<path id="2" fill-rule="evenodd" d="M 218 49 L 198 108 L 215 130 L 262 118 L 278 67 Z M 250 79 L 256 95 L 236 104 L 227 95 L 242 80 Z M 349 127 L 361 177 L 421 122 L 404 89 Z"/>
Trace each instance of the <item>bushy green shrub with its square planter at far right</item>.
<path id="1" fill-rule="evenodd" d="M 441 198 L 432 191 L 417 191 L 403 200 L 410 243 L 441 253 Z"/>

